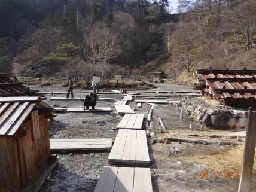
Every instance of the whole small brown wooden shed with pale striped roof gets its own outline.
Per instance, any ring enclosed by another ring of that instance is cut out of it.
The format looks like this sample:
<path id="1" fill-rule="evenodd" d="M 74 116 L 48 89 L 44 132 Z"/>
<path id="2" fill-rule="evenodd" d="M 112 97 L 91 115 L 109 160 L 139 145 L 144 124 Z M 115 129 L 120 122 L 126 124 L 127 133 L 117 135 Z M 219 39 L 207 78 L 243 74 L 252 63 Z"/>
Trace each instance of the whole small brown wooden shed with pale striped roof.
<path id="1" fill-rule="evenodd" d="M 53 164 L 48 133 L 53 110 L 38 96 L 0 97 L 0 192 L 33 191 L 29 186 Z"/>

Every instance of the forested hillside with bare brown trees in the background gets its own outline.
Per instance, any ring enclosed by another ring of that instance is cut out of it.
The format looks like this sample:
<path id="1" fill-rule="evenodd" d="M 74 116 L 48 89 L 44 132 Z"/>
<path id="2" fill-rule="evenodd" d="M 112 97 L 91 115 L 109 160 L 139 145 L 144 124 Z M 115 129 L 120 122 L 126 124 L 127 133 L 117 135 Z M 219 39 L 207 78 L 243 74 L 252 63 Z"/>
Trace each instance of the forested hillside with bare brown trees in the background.
<path id="1" fill-rule="evenodd" d="M 1 0 L 0 71 L 29 76 L 255 68 L 256 1 Z M 168 10 L 168 11 L 167 11 Z"/>

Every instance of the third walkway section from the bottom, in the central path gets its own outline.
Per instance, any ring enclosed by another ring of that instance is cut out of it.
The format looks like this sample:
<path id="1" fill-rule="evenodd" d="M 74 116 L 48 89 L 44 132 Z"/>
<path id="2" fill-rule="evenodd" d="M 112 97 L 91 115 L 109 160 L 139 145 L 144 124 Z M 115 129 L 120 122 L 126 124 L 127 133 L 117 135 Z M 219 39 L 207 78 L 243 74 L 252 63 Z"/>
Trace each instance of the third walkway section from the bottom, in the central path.
<path id="1" fill-rule="evenodd" d="M 117 129 L 142 129 L 144 114 L 125 114 Z"/>

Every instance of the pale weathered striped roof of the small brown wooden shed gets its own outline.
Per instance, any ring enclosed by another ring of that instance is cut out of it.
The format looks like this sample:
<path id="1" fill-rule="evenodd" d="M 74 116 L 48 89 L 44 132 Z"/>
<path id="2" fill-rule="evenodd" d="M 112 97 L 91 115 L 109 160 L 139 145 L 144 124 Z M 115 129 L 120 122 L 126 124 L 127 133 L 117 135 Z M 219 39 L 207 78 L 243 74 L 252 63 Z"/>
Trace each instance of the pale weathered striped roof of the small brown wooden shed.
<path id="1" fill-rule="evenodd" d="M 0 136 L 14 135 L 33 109 L 50 109 L 39 97 L 0 97 Z"/>

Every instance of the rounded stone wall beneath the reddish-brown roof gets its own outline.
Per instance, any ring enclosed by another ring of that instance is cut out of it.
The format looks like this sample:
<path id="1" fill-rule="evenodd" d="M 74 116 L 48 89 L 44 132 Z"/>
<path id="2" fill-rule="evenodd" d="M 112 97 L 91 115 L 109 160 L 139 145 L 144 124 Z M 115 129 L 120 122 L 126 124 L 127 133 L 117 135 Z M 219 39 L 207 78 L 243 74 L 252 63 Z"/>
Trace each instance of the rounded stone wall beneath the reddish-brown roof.
<path id="1" fill-rule="evenodd" d="M 244 129 L 247 124 L 248 111 L 234 109 L 230 106 L 211 106 L 199 98 L 190 98 L 182 102 L 182 109 L 196 122 L 217 129 Z"/>

